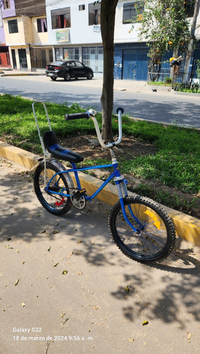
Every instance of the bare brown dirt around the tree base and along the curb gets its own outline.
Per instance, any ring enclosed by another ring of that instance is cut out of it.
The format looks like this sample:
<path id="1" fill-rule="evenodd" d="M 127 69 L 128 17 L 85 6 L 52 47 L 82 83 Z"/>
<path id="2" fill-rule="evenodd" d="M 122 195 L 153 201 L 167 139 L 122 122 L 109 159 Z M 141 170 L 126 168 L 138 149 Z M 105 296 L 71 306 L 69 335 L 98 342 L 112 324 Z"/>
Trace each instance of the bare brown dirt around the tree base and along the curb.
<path id="1" fill-rule="evenodd" d="M 102 149 L 101 146 L 98 144 L 95 136 L 87 135 L 86 137 L 86 136 L 78 135 L 77 137 L 62 139 L 60 140 L 59 143 L 62 144 L 63 147 L 67 147 L 68 149 L 74 150 L 74 152 L 78 152 L 79 154 L 82 154 L 82 156 L 84 156 L 84 159 L 96 159 L 96 158 L 110 159 L 111 156 L 109 149 L 108 150 Z M 155 154 L 156 148 L 152 144 L 149 144 L 148 142 L 144 142 L 143 140 L 137 140 L 134 139 L 133 137 L 126 136 L 123 137 L 120 146 L 114 148 L 114 152 L 120 164 L 120 158 L 134 159 L 137 156 L 141 156 L 145 154 Z M 96 170 L 93 172 L 94 172 L 93 176 L 96 176 L 97 178 L 106 176 L 105 170 L 104 171 Z M 138 188 L 140 186 L 140 183 L 143 184 L 146 183 L 150 188 L 152 188 L 152 190 L 161 189 L 165 193 L 170 193 L 170 195 L 176 194 L 179 200 L 182 200 L 182 202 L 179 205 L 179 211 L 185 212 L 193 217 L 200 218 L 200 198 L 198 198 L 199 195 L 182 193 L 176 188 L 166 187 L 161 183 L 157 183 L 157 181 L 147 181 L 147 180 L 144 181 L 142 179 L 135 178 L 130 174 L 125 176 L 128 181 L 129 190 L 134 192 L 135 188 Z M 146 195 L 146 196 L 156 200 L 155 195 Z M 196 198 L 195 206 L 190 207 L 189 204 L 191 204 L 194 198 Z M 165 201 L 162 200 L 157 200 L 157 202 L 160 202 L 161 204 L 162 203 L 165 204 Z M 174 207 L 174 205 L 167 205 L 167 206 Z"/>

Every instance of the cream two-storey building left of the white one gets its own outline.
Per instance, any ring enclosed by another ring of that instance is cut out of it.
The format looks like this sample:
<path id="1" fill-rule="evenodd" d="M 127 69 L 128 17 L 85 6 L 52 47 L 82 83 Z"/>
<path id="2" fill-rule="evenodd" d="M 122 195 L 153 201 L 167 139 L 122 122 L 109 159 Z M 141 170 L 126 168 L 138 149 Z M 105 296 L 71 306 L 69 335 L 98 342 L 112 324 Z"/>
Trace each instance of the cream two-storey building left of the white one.
<path id="1" fill-rule="evenodd" d="M 34 71 L 52 61 L 48 45 L 45 0 L 14 1 L 15 11 L 4 17 L 4 37 L 13 69 Z"/>

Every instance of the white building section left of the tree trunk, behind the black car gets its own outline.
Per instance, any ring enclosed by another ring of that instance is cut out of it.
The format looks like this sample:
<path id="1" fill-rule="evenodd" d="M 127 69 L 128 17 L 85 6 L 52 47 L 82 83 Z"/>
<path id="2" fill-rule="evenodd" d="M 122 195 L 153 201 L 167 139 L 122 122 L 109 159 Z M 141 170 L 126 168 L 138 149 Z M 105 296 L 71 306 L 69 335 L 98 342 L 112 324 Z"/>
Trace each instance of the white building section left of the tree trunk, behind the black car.
<path id="1" fill-rule="evenodd" d="M 55 8 L 46 1 L 49 44 L 53 58 L 77 59 L 103 75 L 103 47 L 101 40 L 101 5 L 91 1 L 60 1 Z"/>

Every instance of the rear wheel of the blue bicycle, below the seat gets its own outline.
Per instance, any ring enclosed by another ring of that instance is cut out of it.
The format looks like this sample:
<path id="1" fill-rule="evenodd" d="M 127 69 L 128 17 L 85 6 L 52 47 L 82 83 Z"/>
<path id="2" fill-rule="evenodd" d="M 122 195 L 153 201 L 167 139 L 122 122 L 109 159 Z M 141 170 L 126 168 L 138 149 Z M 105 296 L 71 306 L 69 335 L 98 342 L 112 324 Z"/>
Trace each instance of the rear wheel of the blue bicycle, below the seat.
<path id="1" fill-rule="evenodd" d="M 57 165 L 47 162 L 46 164 L 46 185 L 48 185 L 52 176 L 60 172 Z M 40 164 L 35 170 L 34 189 L 40 203 L 48 212 L 54 215 L 62 215 L 70 210 L 72 201 L 70 197 L 59 195 L 57 193 L 70 194 L 67 178 L 64 173 L 60 173 L 52 178 L 48 190 L 45 191 L 45 164 Z M 55 192 L 55 193 L 53 193 Z"/>

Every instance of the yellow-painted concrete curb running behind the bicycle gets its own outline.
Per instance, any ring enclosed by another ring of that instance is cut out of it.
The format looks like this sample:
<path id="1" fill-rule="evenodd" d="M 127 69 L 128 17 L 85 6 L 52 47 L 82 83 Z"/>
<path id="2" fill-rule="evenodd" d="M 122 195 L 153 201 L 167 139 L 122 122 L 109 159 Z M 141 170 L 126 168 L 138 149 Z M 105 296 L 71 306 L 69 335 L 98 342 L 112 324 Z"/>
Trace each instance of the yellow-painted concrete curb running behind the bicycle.
<path id="1" fill-rule="evenodd" d="M 38 164 L 38 159 L 41 158 L 38 155 L 26 152 L 23 149 L 13 147 L 10 144 L 1 141 L 0 156 L 13 161 L 28 170 L 33 170 Z M 85 173 L 79 173 L 79 178 L 82 183 L 82 188 L 85 188 L 89 195 L 93 194 L 102 183 L 98 178 L 88 176 Z M 129 194 L 134 195 L 133 193 Z M 116 187 L 109 183 L 104 190 L 99 193 L 98 199 L 106 204 L 114 205 L 118 201 Z M 162 207 L 164 207 L 170 217 L 172 217 L 177 235 L 195 246 L 200 246 L 200 220 L 196 219 L 196 217 L 191 217 L 182 212 L 178 212 L 177 210 L 173 210 L 170 207 L 165 207 L 165 205 L 162 205 Z"/>

